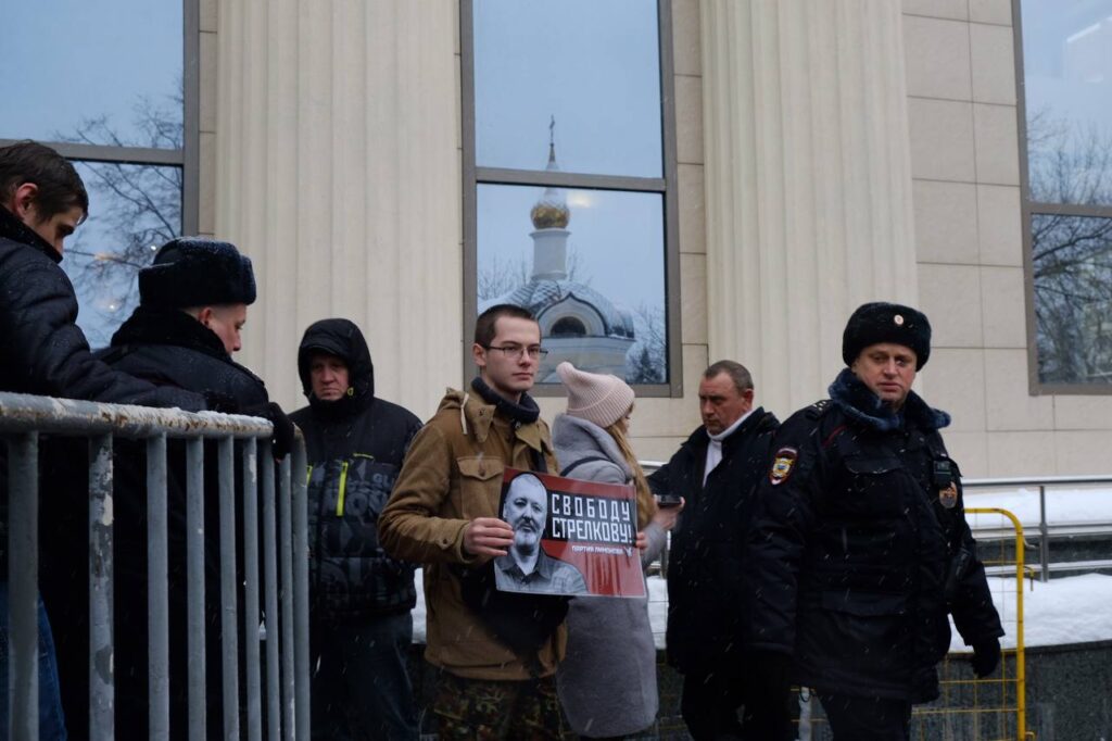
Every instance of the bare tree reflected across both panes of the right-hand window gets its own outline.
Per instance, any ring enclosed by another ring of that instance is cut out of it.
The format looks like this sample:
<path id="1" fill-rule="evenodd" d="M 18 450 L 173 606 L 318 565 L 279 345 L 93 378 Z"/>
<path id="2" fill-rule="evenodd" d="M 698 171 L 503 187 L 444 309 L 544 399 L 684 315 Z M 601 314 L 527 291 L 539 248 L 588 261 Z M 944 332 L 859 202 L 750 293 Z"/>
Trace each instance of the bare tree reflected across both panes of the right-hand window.
<path id="1" fill-rule="evenodd" d="M 1112 137 L 1045 110 L 1027 130 L 1040 378 L 1112 383 L 1112 218 L 1051 210 L 1112 205 Z"/>

